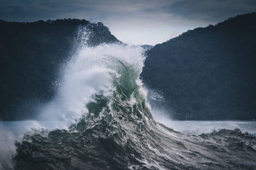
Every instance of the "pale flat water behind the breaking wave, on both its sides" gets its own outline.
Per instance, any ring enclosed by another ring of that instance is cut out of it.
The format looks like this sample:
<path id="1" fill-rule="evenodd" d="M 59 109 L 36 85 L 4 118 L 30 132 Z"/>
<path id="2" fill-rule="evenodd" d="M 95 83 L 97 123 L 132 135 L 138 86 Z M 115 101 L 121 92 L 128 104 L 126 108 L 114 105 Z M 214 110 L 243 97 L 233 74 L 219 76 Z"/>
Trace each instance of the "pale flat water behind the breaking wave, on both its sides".
<path id="1" fill-rule="evenodd" d="M 171 120 L 154 118 L 160 124 L 173 129 L 173 131 L 182 132 L 184 134 L 197 135 L 211 134 L 221 129 L 231 131 L 241 131 L 242 133 L 248 132 L 252 136 L 256 136 L 256 121 L 241 121 L 241 120 L 228 120 L 228 121 L 200 121 L 200 120 Z M 2 129 L 10 132 L 15 140 L 20 141 L 24 134 L 31 131 L 40 131 L 40 129 L 68 129 L 67 124 L 61 121 L 38 121 L 38 120 L 24 120 L 24 121 L 0 121 Z"/>

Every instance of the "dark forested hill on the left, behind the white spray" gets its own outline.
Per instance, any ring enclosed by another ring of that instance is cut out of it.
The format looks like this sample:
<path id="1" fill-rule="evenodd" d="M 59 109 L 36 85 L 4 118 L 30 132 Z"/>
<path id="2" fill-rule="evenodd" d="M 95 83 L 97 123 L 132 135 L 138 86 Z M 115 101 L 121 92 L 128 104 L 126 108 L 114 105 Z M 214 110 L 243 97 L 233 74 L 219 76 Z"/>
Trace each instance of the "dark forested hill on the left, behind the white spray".
<path id="1" fill-rule="evenodd" d="M 56 74 L 70 57 L 79 26 L 92 32 L 92 46 L 118 42 L 100 22 L 0 20 L 0 120 L 33 118 L 36 108 L 52 98 Z"/>

